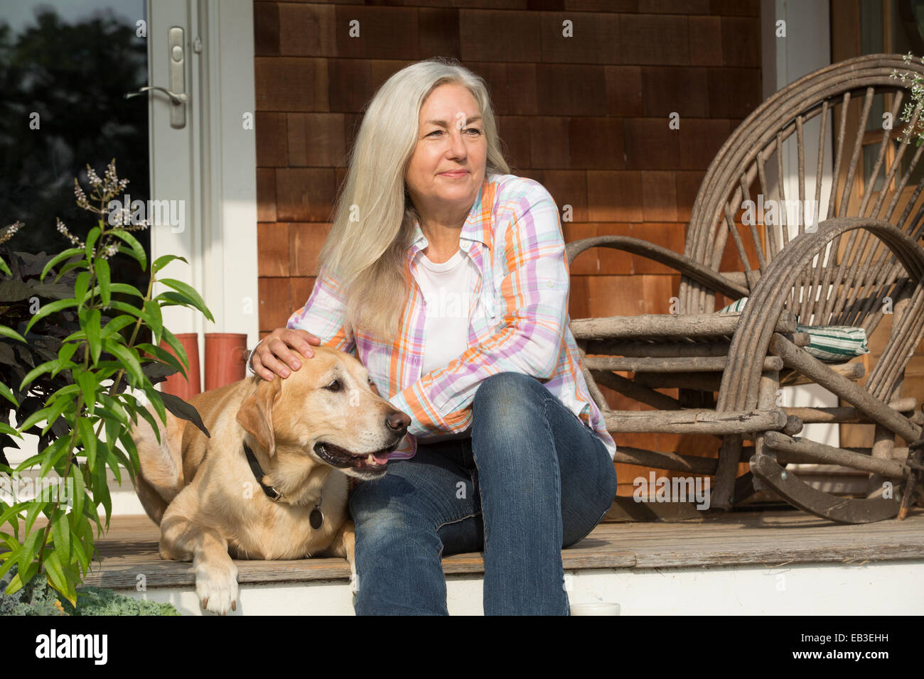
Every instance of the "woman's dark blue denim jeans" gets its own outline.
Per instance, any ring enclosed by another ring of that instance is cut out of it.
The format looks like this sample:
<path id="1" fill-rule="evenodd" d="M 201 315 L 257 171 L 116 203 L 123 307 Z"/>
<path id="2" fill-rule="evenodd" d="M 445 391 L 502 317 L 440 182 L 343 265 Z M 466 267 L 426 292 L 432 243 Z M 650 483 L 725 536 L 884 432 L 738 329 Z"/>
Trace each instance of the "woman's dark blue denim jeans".
<path id="1" fill-rule="evenodd" d="M 355 610 L 447 615 L 441 557 L 484 552 L 486 615 L 568 615 L 561 550 L 613 503 L 600 437 L 529 375 L 481 382 L 471 437 L 418 443 L 350 494 Z"/>

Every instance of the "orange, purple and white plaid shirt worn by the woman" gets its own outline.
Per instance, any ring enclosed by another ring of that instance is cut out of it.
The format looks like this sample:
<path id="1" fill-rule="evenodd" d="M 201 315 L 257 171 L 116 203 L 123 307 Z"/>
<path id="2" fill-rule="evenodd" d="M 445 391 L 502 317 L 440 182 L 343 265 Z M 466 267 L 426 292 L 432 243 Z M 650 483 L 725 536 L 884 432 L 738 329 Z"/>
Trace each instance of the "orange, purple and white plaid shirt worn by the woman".
<path id="1" fill-rule="evenodd" d="M 357 356 L 379 393 L 388 394 L 390 403 L 411 418 L 389 459 L 412 457 L 418 438 L 427 443 L 430 436 L 467 430 L 479 384 L 504 371 L 543 382 L 614 456 L 616 445 L 590 398 L 569 327 L 565 239 L 549 192 L 526 177 L 485 179 L 459 236 L 459 248 L 480 272 L 471 293 L 468 349 L 444 368 L 421 374 L 426 311 L 416 278 L 420 251 L 426 248 L 417 222 L 407 250 L 411 293 L 394 345 L 361 330 L 353 336 L 345 322 L 344 289 L 323 267 L 308 302 L 287 323 Z"/>

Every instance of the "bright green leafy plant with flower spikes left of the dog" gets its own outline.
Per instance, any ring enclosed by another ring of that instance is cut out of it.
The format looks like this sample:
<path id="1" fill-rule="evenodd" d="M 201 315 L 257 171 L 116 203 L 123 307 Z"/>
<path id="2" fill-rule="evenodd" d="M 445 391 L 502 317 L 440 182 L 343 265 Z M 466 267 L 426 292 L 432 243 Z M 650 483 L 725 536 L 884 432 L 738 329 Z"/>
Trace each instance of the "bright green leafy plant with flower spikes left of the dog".
<path id="1" fill-rule="evenodd" d="M 0 458 L 0 483 L 35 467 L 39 479 L 56 473 L 51 493 L 44 483 L 43 492 L 25 500 L 13 492 L 16 483 L 7 489 L 8 497 L 0 492 L 0 540 L 6 544 L 0 577 L 17 565 L 5 588 L 10 595 L 41 574 L 72 606 L 94 554 L 90 523 L 102 534 L 98 508 L 103 507 L 106 529 L 112 515 L 106 468 L 120 483 L 121 468 L 128 469 L 134 482 L 139 461 L 130 427 L 140 415 L 157 430 L 145 405 L 150 403 L 161 421 L 170 410 L 208 435 L 195 408 L 154 388 L 166 375 L 188 370 L 183 347 L 164 327 L 162 309 L 198 309 L 213 321 L 196 290 L 159 276 L 171 261 L 186 261 L 182 257 L 164 255 L 154 261 L 145 292 L 117 282 L 114 274 L 120 268 L 111 267 L 110 260 L 118 254 L 146 270 L 147 256 L 132 232 L 148 224 L 132 222 L 127 209 L 107 207 L 128 184 L 116 176 L 115 160 L 102 179 L 88 165 L 88 177 L 90 199 L 74 180 L 79 207 L 97 215 L 85 242 L 59 220 L 58 231 L 72 248 L 51 257 L 7 249 L 9 264 L 0 259 L 0 272 L 6 274 L 0 278 L 0 346 L 5 346 L 0 348 L 0 400 L 6 403 L 0 443 L 12 443 L 27 432 L 39 436 L 38 453 L 16 468 Z M 0 245 L 19 227 L 6 227 Z M 153 295 L 155 282 L 169 289 Z M 7 424 L 11 415 L 15 427 Z M 39 515 L 47 518 L 43 527 L 35 526 Z"/>

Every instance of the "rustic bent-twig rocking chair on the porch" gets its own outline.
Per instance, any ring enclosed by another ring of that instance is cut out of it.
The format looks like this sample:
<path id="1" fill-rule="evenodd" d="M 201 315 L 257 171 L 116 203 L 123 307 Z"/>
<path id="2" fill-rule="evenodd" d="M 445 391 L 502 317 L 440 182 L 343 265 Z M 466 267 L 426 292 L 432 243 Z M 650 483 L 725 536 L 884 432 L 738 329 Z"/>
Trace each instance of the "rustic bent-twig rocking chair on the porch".
<path id="1" fill-rule="evenodd" d="M 924 200 L 918 200 L 924 199 L 924 178 L 917 186 L 909 183 L 924 145 L 898 142 L 905 127 L 901 106 L 910 96 L 891 77 L 894 71 L 924 75 L 924 67 L 906 65 L 900 55 L 857 57 L 797 80 L 748 115 L 699 188 L 683 255 L 628 236 L 595 236 L 567 245 L 569 262 L 587 249 L 606 247 L 681 273 L 679 313 L 571 322 L 592 397 L 617 444 L 620 432 L 714 434 L 723 442 L 717 460 L 620 445 L 617 462 L 714 474 L 711 506 L 719 510 L 742 502 L 756 488 L 839 522 L 898 514 L 909 470 L 919 465 L 917 458 L 907 459 L 906 447 L 895 446 L 895 436 L 913 443 L 924 423 L 916 400 L 900 397 L 906 364 L 924 331 L 924 250 L 918 245 L 924 237 Z M 882 127 L 879 115 L 870 117 L 879 101 L 891 110 L 894 129 L 868 130 L 868 124 Z M 912 124 L 919 113 L 914 111 Z M 833 149 L 825 142 L 829 117 L 835 126 Z M 784 142 L 793 135 L 798 200 L 806 204 L 804 127 L 816 118 L 819 161 L 809 171 L 814 171 L 814 200 L 826 196 L 828 207 L 815 215 L 803 213 L 792 237 L 786 225 L 739 228 L 736 217 L 745 200 L 755 199 L 755 182 L 765 198 L 785 200 L 784 182 L 772 187 L 768 176 L 774 170 L 784 176 Z M 880 134 L 881 140 L 867 173 L 863 162 L 871 158 L 865 158 L 863 145 L 870 134 Z M 833 176 L 822 172 L 826 153 L 833 153 Z M 807 229 L 807 223 L 817 230 Z M 726 249 L 734 249 L 740 271 L 719 272 Z M 748 297 L 748 302 L 738 313 L 716 314 L 716 293 L 733 300 Z M 863 386 L 857 384 L 864 376 L 862 363 L 824 363 L 808 354 L 808 334 L 796 332 L 796 322 L 862 327 L 871 334 L 889 313 L 886 297 L 893 305 L 891 334 Z M 628 379 L 615 371 L 634 375 Z M 850 406 L 779 406 L 781 382 L 821 384 Z M 656 409 L 611 410 L 598 384 Z M 657 388 L 678 388 L 678 397 Z M 875 443 L 845 449 L 796 437 L 808 422 L 873 423 Z M 746 440 L 753 445 L 745 446 Z M 736 479 L 738 463 L 746 461 L 750 471 Z M 863 470 L 872 475 L 871 490 L 866 498 L 835 497 L 787 472 L 789 463 Z"/>

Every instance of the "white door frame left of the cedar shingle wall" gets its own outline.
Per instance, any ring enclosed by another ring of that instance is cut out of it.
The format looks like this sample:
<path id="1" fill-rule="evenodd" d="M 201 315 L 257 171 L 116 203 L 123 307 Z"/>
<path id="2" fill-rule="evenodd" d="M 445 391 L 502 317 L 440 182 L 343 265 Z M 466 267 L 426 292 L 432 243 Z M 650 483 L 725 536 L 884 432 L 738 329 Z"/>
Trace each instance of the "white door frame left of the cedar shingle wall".
<path id="1" fill-rule="evenodd" d="M 259 331 L 253 3 L 149 2 L 152 86 L 168 87 L 172 26 L 186 31 L 186 126 L 170 127 L 165 95 L 149 96 L 151 199 L 182 201 L 184 220 L 152 225 L 152 260 L 174 254 L 189 262 L 171 262 L 164 276 L 195 287 L 215 322 L 168 307 L 164 324 L 174 333 L 200 333 L 204 366 L 204 333 L 247 333 L 254 346 Z"/>

